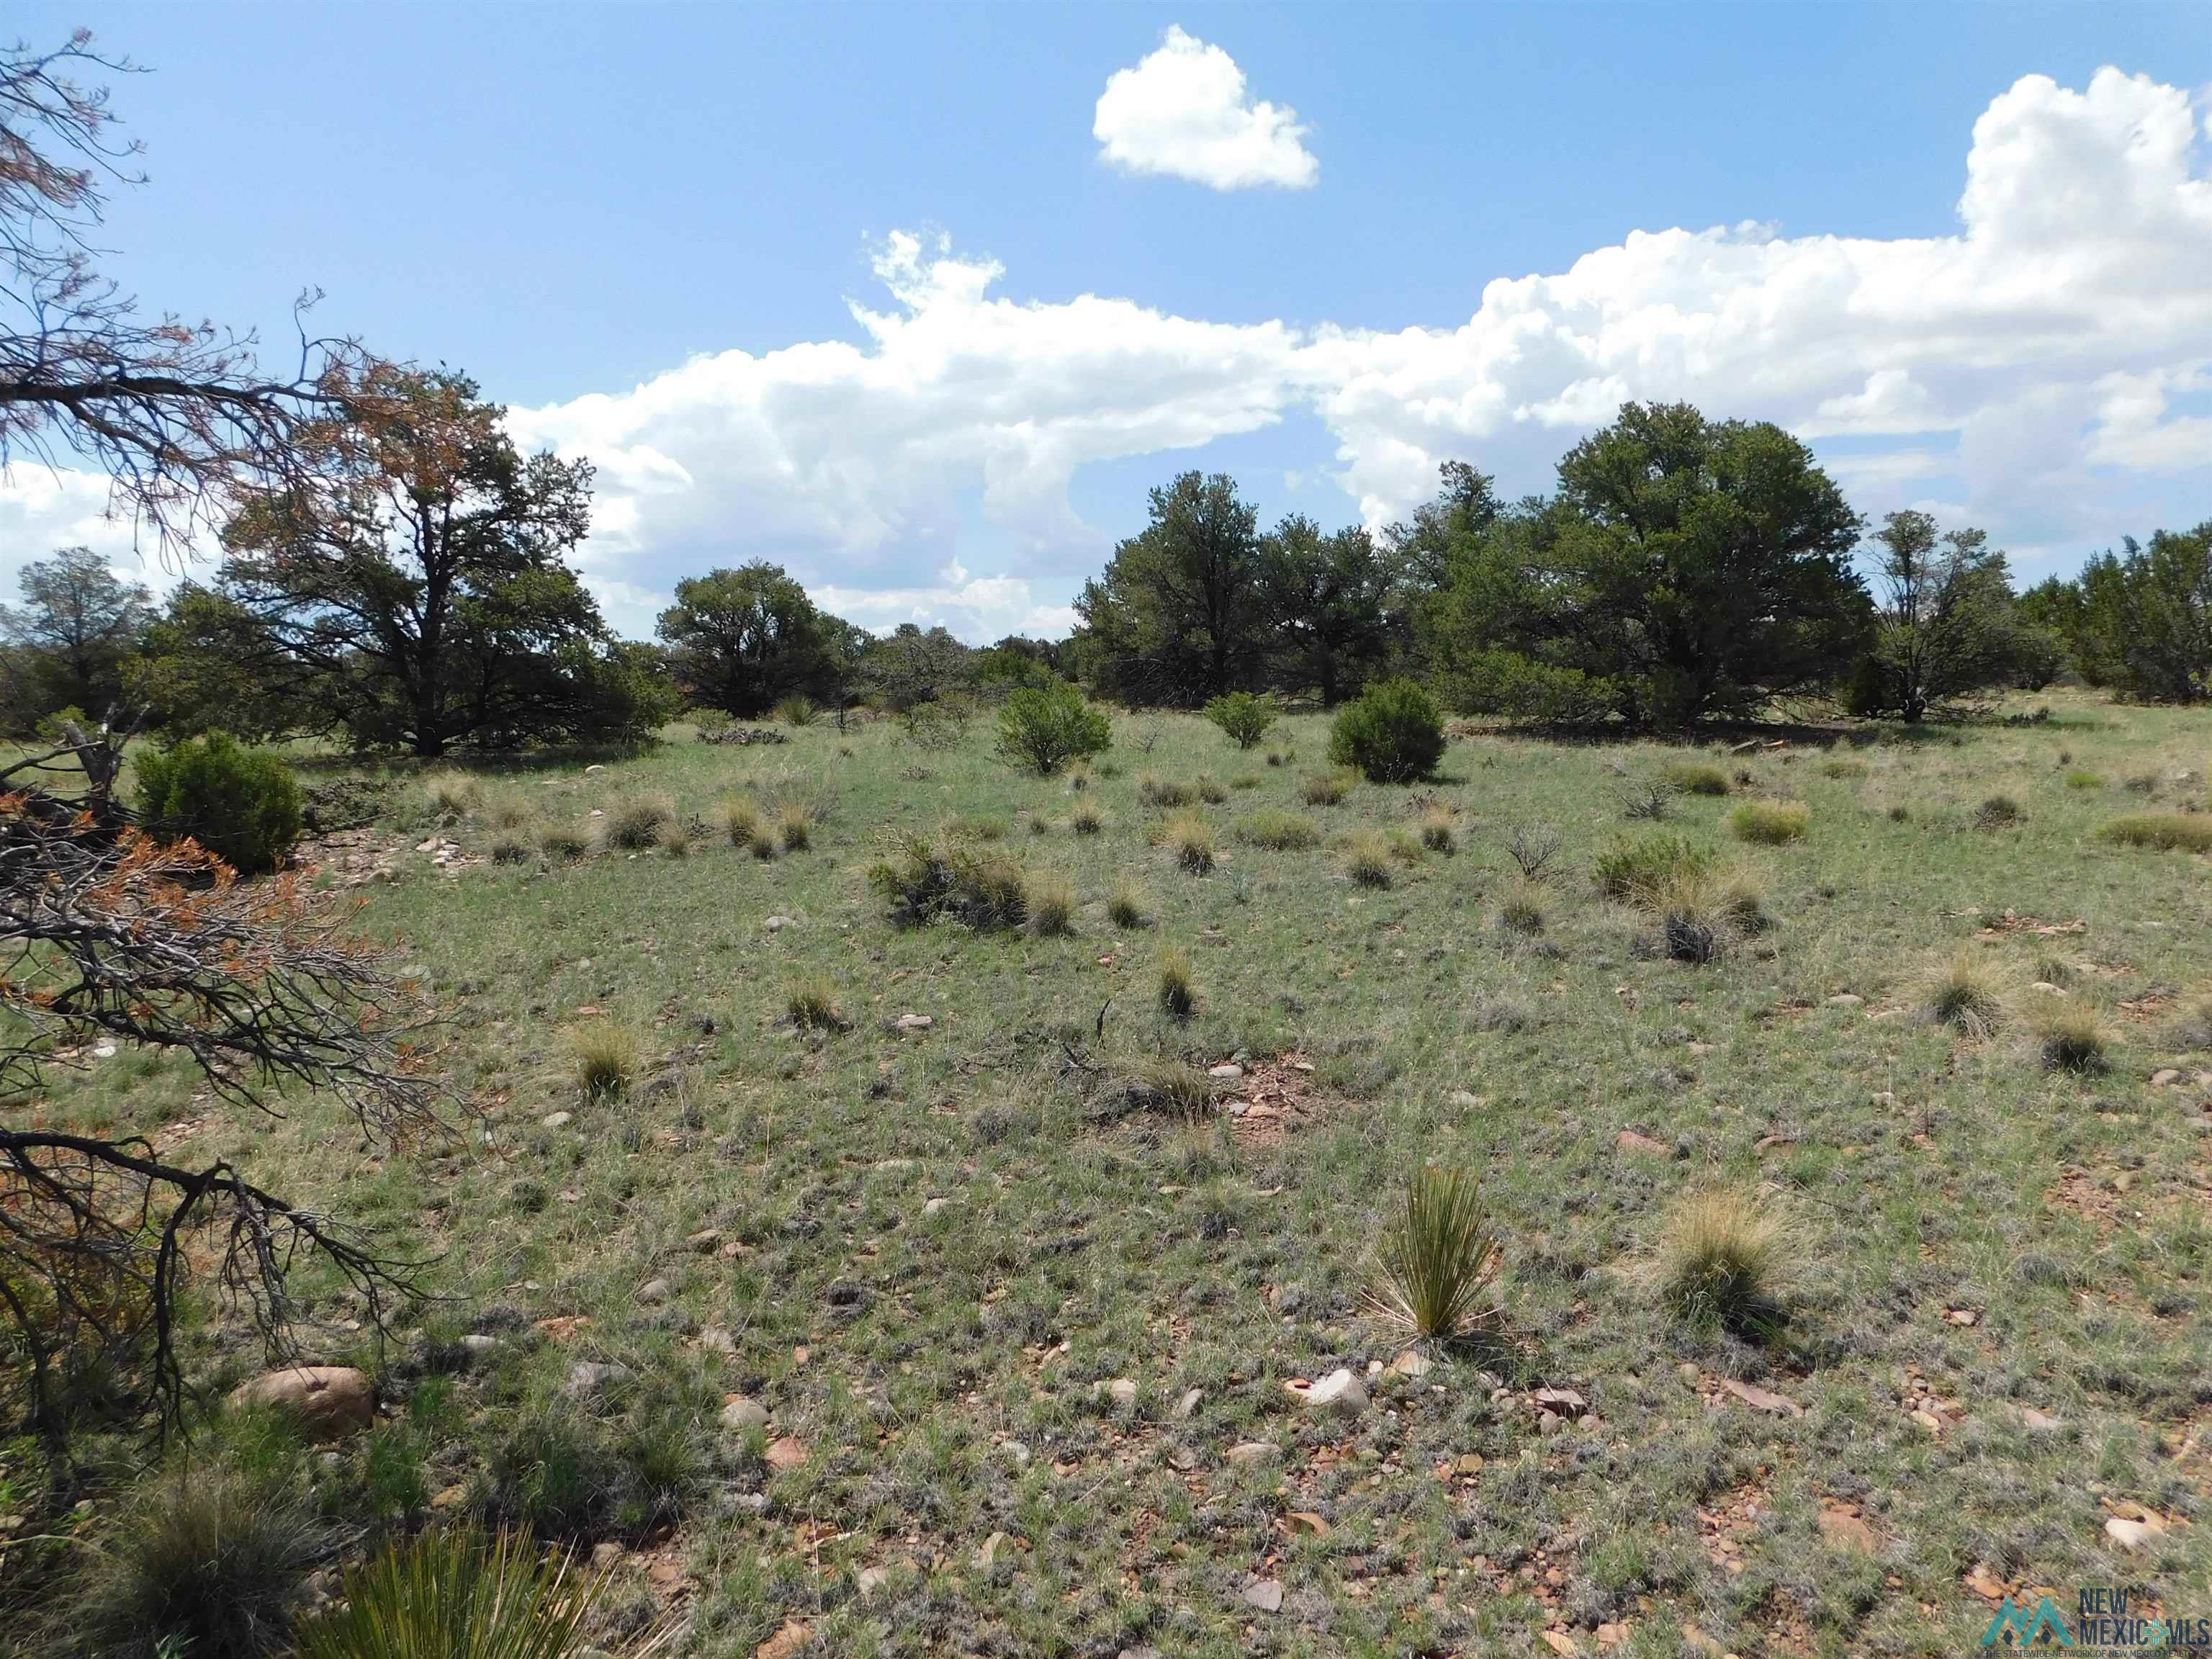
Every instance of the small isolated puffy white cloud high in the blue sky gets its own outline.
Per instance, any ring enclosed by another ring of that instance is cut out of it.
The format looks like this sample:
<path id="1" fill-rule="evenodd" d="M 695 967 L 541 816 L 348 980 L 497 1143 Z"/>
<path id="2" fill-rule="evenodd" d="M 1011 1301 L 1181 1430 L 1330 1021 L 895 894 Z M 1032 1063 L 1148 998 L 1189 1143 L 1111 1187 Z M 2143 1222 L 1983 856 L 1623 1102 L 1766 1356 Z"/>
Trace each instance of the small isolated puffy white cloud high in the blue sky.
<path id="1" fill-rule="evenodd" d="M 1106 77 L 1091 137 L 1128 173 L 1159 173 L 1214 190 L 1283 186 L 1321 177 L 1307 128 L 1287 104 L 1254 104 L 1245 75 L 1221 46 L 1168 29 L 1159 51 Z"/>

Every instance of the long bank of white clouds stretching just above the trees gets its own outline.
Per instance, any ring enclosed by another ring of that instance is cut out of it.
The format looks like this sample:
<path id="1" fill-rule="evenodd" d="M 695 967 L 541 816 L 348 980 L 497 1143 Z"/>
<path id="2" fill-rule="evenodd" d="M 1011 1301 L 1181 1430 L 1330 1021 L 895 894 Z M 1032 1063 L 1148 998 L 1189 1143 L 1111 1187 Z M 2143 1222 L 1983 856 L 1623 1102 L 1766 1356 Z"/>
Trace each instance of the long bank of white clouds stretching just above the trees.
<path id="1" fill-rule="evenodd" d="M 1086 465 L 1166 476 L 1307 411 L 1369 522 L 1429 495 L 1440 460 L 1542 489 L 1624 398 L 1690 398 L 1803 434 L 1869 513 L 1986 524 L 2035 568 L 2212 500 L 2197 122 L 2146 77 L 2031 75 L 1975 122 L 1953 234 L 1637 232 L 1489 283 L 1458 327 L 1389 334 L 1013 301 L 995 263 L 896 234 L 854 341 L 701 356 L 513 422 L 599 465 L 584 568 L 633 633 L 677 577 L 748 557 L 867 626 L 1057 630 L 1108 551 L 1068 504 Z M 93 495 L 38 489 L 0 493 L 0 546 L 91 540 Z"/>

